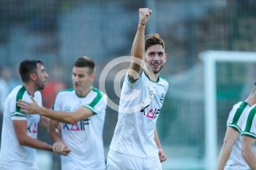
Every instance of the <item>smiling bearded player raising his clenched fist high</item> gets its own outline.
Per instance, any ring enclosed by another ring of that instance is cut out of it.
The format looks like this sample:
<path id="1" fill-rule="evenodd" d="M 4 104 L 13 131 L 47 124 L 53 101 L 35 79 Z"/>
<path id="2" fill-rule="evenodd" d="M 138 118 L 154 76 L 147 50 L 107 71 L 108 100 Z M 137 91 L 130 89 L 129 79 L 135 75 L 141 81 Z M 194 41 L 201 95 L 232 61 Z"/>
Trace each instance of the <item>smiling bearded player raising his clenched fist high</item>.
<path id="1" fill-rule="evenodd" d="M 168 82 L 159 75 L 167 54 L 158 34 L 144 36 L 152 11 L 141 8 L 139 13 L 132 62 L 122 87 L 118 122 L 109 147 L 109 170 L 158 170 L 162 169 L 161 162 L 166 160 L 157 135 L 156 120 L 168 89 Z M 132 96 L 134 90 L 140 91 L 138 97 Z"/>

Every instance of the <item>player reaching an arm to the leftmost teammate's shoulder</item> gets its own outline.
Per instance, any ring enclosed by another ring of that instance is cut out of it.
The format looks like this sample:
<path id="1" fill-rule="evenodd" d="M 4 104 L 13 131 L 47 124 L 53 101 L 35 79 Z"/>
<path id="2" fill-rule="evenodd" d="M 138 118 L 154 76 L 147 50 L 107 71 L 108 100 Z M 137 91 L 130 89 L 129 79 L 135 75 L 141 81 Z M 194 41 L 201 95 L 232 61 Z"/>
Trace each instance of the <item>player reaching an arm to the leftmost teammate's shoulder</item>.
<path id="1" fill-rule="evenodd" d="M 54 141 L 54 152 L 61 153 L 67 145 L 72 151 L 61 157 L 62 170 L 105 170 L 102 130 L 106 113 L 107 97 L 92 87 L 95 64 L 82 57 L 73 65 L 73 88 L 60 91 L 51 109 L 39 107 L 34 101 L 18 102 L 22 111 L 39 113 L 51 118 L 49 135 Z M 24 105 L 25 104 L 25 105 Z M 56 128 L 62 123 L 62 139 Z"/>

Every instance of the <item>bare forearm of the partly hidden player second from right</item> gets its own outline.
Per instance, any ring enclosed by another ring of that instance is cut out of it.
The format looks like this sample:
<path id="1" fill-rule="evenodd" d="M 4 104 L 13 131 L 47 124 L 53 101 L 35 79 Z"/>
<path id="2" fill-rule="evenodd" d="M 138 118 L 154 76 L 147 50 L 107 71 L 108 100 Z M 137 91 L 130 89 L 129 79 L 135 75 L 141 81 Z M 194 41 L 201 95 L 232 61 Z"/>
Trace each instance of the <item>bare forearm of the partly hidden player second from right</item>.
<path id="1" fill-rule="evenodd" d="M 217 169 L 218 170 L 223 170 L 225 165 L 227 164 L 228 158 L 230 157 L 230 153 L 232 151 L 232 144 L 229 143 L 223 143 L 223 146 L 220 151 L 220 155 L 218 158 L 218 163 L 217 163 Z"/>

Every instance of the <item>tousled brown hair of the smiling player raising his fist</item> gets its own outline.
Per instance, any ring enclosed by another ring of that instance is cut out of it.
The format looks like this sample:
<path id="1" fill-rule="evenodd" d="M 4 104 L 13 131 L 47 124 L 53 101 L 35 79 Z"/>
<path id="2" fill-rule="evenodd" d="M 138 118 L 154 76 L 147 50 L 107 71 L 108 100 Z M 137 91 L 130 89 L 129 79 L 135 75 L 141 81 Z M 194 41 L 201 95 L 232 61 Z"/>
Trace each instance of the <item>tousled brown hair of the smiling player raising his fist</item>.
<path id="1" fill-rule="evenodd" d="M 162 45 L 163 49 L 165 49 L 165 43 L 164 40 L 157 34 L 150 34 L 145 36 L 145 51 L 151 46 L 151 45 Z"/>

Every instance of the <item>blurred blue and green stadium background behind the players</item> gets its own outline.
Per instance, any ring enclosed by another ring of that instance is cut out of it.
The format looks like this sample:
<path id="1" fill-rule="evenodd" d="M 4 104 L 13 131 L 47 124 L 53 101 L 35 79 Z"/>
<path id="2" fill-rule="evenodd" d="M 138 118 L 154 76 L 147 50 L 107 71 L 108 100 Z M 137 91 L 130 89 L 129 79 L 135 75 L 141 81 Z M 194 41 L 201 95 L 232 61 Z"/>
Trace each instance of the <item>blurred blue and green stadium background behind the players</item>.
<path id="1" fill-rule="evenodd" d="M 204 70 L 198 54 L 205 50 L 255 51 L 255 0 L 0 0 L 0 97 L 21 83 L 17 72 L 20 61 L 33 58 L 42 59 L 49 74 L 42 91 L 45 107 L 51 106 L 60 89 L 72 87 L 72 63 L 81 56 L 95 61 L 93 86 L 98 88 L 104 66 L 130 55 L 138 9 L 146 6 L 153 10 L 147 34 L 159 33 L 168 54 L 161 75 L 170 86 L 157 120 L 168 157 L 163 169 L 207 169 Z M 119 100 L 113 93 L 113 80 L 125 66 L 115 66 L 106 81 L 108 96 L 116 104 Z M 250 93 L 256 64 L 228 62 L 216 66 L 219 153 L 228 113 Z M 107 108 L 105 155 L 116 121 L 117 112 Z M 38 138 L 52 143 L 46 130 L 40 130 Z M 41 170 L 60 169 L 58 155 L 38 151 L 37 160 Z"/>

